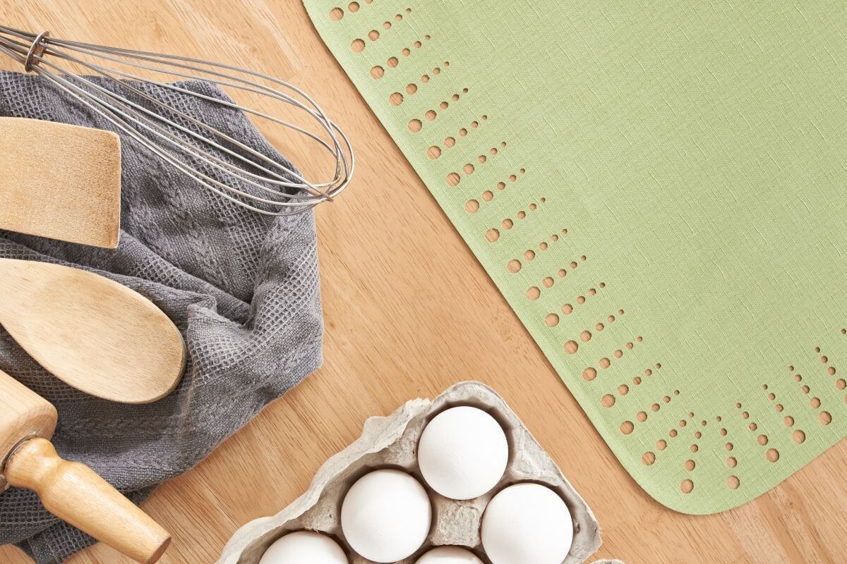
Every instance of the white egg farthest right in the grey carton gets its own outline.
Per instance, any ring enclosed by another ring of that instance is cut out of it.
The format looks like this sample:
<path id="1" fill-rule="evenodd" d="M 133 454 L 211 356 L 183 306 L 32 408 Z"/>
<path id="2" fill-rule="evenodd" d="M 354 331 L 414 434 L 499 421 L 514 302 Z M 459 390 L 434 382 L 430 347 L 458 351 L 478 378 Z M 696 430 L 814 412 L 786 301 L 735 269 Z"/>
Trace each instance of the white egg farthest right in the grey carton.
<path id="1" fill-rule="evenodd" d="M 494 564 L 562 564 L 572 542 L 571 512 L 543 485 L 512 485 L 485 508 L 482 545 Z"/>

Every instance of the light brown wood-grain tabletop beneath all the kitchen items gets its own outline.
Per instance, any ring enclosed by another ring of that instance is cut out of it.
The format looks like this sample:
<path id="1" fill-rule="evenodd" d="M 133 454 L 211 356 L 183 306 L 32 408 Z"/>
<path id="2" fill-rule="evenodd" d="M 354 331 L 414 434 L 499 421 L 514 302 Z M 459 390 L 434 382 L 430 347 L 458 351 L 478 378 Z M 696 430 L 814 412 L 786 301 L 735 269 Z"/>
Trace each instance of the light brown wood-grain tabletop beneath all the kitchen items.
<path id="1" fill-rule="evenodd" d="M 672 512 L 635 484 L 346 79 L 300 0 L 3 0 L 0 22 L 275 74 L 315 96 L 357 148 L 352 188 L 317 212 L 324 367 L 145 504 L 174 535 L 163 564 L 216 561 L 236 528 L 306 490 L 368 416 L 468 379 L 501 392 L 593 507 L 604 540 L 597 557 L 847 561 L 847 441 L 720 515 Z M 314 160 L 301 146 L 279 146 L 298 166 Z M 0 561 L 29 560 L 7 546 Z M 70 562 L 130 561 L 97 545 Z"/>

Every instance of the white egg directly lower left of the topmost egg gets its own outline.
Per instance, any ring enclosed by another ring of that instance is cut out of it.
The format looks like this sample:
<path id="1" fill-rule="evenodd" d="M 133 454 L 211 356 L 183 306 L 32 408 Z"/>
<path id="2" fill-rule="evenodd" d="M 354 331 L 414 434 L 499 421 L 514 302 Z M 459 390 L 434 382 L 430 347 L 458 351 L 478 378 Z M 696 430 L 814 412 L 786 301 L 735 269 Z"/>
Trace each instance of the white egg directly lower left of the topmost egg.
<path id="1" fill-rule="evenodd" d="M 341 504 L 341 528 L 353 550 L 374 562 L 396 562 L 421 547 L 432 524 L 424 486 L 400 470 L 376 470 L 352 485 Z"/>

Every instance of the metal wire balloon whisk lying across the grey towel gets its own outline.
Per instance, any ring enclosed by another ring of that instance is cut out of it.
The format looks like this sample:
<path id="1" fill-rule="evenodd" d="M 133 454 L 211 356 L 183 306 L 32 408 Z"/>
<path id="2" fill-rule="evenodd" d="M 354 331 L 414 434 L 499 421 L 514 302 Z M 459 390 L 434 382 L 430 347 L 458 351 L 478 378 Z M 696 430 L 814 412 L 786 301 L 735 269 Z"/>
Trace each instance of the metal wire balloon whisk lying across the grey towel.
<path id="1" fill-rule="evenodd" d="M 355 157 L 346 134 L 327 118 L 311 97 L 283 80 L 223 63 L 91 45 L 58 39 L 47 31 L 34 34 L 4 25 L 0 25 L 0 52 L 21 63 L 27 72 L 49 80 L 206 189 L 257 213 L 287 216 L 306 211 L 332 200 L 352 180 Z M 102 63 L 118 63 L 130 70 L 109 68 Z M 63 65 L 83 68 L 91 76 L 75 74 Z M 221 99 L 190 90 L 180 82 L 142 78 L 135 74 L 138 72 L 135 69 L 268 96 L 306 112 L 317 123 L 320 133 L 241 106 L 227 96 Z M 284 162 L 277 162 L 151 96 L 135 81 L 157 85 L 182 96 L 195 96 L 293 129 L 329 151 L 335 158 L 334 176 L 329 181 L 308 181 Z"/>

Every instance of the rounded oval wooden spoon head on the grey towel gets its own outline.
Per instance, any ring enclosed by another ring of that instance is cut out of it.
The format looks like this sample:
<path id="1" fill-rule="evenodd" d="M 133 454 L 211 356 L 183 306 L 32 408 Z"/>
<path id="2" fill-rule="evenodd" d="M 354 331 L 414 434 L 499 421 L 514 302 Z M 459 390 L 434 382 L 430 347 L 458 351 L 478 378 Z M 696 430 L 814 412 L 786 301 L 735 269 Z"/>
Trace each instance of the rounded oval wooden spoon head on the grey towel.
<path id="1" fill-rule="evenodd" d="M 130 288 L 69 266 L 12 259 L 0 259 L 0 288 L 0 325 L 81 392 L 148 403 L 180 381 L 180 331 Z"/>

